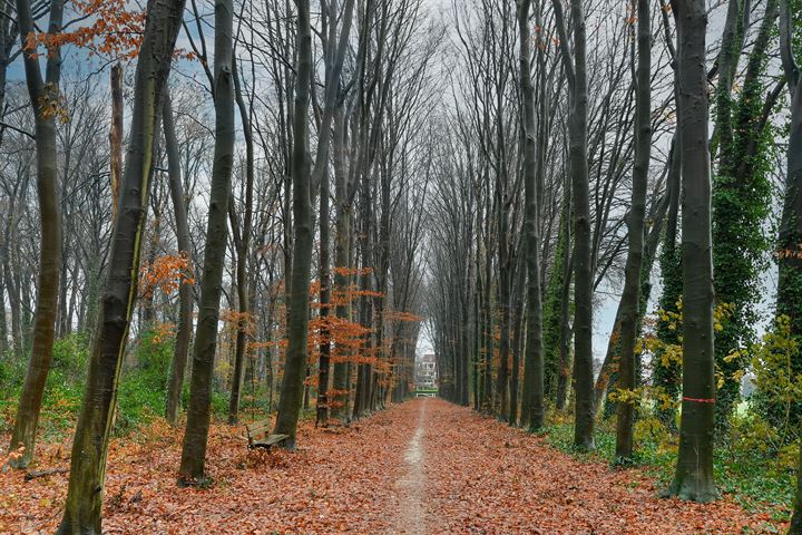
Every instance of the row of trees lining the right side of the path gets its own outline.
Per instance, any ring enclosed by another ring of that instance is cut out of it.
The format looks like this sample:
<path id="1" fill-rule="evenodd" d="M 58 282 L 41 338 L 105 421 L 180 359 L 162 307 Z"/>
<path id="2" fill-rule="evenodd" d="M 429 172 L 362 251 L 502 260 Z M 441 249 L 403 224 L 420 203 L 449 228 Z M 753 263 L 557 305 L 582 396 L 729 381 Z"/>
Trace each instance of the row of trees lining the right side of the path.
<path id="1" fill-rule="evenodd" d="M 757 387 L 750 410 L 791 429 L 784 444 L 800 436 L 795 388 L 777 388 L 799 381 L 799 351 L 783 371 L 756 341 L 771 309 L 767 331 L 799 343 L 799 10 L 576 0 L 453 13 L 460 69 L 428 207 L 441 395 L 532 431 L 570 402 L 583 450 L 597 418 L 615 416 L 619 464 L 654 414 L 678 432 L 668 494 L 715 499 L 714 448 L 744 377 Z M 761 300 L 772 254 L 775 303 Z M 594 313 L 610 293 L 594 362 Z"/>

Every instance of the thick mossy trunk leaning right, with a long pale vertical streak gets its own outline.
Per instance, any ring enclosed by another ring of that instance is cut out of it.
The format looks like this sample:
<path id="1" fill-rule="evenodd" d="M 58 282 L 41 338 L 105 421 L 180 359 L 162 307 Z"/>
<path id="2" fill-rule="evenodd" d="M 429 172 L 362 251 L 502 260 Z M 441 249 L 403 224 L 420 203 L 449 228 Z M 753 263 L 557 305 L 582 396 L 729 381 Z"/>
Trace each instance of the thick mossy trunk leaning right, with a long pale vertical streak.
<path id="1" fill-rule="evenodd" d="M 108 275 L 72 441 L 69 487 L 59 535 L 101 533 L 106 455 L 134 312 L 141 236 L 156 159 L 154 144 L 183 12 L 182 0 L 150 0 L 147 4 Z"/>

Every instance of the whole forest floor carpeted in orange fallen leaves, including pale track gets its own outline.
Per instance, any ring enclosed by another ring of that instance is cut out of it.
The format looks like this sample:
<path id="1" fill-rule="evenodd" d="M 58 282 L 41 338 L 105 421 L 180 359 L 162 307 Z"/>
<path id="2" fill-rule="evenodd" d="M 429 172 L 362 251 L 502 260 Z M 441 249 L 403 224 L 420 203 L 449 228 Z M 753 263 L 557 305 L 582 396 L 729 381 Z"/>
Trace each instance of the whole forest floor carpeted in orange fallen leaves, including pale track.
<path id="1" fill-rule="evenodd" d="M 769 534 L 767 514 L 724 497 L 657 497 L 639 469 L 579 461 L 542 437 L 439 399 L 391 407 L 350 428 L 304 425 L 294 453 L 248 451 L 242 427 L 213 426 L 212 488 L 177 488 L 180 431 L 154 424 L 115 440 L 104 533 L 144 534 Z M 0 437 L 6 441 L 7 437 Z M 38 469 L 67 467 L 43 445 Z M 0 475 L 0 534 L 52 533 L 67 476 Z"/>

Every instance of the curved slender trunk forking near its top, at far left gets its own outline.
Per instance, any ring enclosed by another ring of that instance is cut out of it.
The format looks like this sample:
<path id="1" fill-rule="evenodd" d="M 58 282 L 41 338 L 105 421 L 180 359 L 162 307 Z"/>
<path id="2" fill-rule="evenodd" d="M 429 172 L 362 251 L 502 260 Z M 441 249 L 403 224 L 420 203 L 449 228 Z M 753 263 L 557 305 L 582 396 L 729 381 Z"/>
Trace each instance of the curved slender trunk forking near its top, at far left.
<path id="1" fill-rule="evenodd" d="M 61 31 L 63 3 L 53 0 L 50 4 L 48 35 Z M 28 33 L 32 32 L 33 18 L 30 0 L 17 1 L 17 18 L 26 47 Z M 35 113 L 37 152 L 37 195 L 39 198 L 39 275 L 37 279 L 36 318 L 33 322 L 33 342 L 26 371 L 20 402 L 17 407 L 14 427 L 11 431 L 10 451 L 21 449 L 21 455 L 10 464 L 25 468 L 33 458 L 37 425 L 41 410 L 45 383 L 50 361 L 56 329 L 56 314 L 59 299 L 59 279 L 61 270 L 61 211 L 58 200 L 58 147 L 56 140 L 56 118 L 50 109 L 52 99 L 58 101 L 61 56 L 58 48 L 48 52 L 46 76 L 42 79 L 36 50 L 22 54 L 28 95 Z M 3 314 L 6 313 L 3 303 Z"/>

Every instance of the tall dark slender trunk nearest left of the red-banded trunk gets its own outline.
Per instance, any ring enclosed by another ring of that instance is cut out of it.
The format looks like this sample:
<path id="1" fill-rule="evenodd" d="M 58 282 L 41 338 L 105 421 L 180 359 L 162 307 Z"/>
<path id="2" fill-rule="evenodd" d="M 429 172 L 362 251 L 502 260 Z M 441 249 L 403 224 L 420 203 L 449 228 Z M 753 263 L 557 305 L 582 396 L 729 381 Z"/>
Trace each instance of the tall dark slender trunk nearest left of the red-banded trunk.
<path id="1" fill-rule="evenodd" d="M 649 0 L 635 0 L 637 9 L 637 69 L 635 74 L 635 164 L 633 167 L 632 205 L 627 214 L 629 250 L 622 295 L 620 353 L 618 382 L 620 389 L 634 395 L 636 387 L 635 342 L 640 317 L 640 275 L 644 255 L 646 185 L 652 150 L 652 17 Z M 635 54 L 633 54 L 633 61 Z M 633 424 L 637 399 L 618 402 L 616 422 L 616 459 L 632 463 L 635 440 Z"/>

